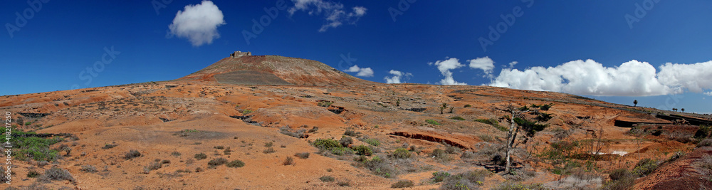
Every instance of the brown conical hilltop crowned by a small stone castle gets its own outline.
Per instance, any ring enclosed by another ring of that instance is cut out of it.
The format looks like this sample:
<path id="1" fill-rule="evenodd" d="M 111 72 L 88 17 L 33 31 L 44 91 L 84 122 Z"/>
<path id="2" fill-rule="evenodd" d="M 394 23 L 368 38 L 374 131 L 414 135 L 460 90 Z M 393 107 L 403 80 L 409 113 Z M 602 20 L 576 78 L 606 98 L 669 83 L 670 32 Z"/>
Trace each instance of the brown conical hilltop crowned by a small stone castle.
<path id="1" fill-rule="evenodd" d="M 236 51 L 178 80 L 235 85 L 355 85 L 372 83 L 316 60 L 283 56 L 252 56 Z"/>

